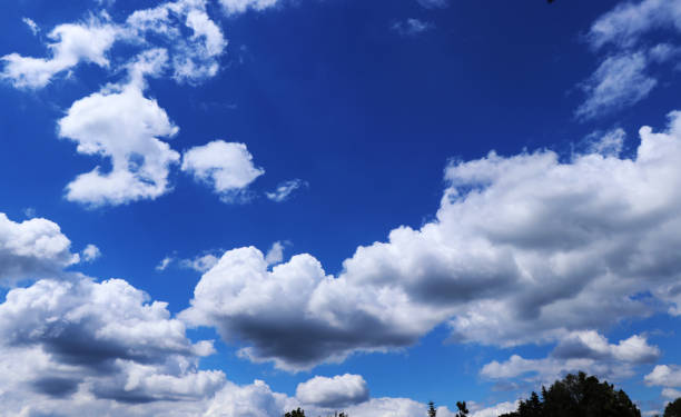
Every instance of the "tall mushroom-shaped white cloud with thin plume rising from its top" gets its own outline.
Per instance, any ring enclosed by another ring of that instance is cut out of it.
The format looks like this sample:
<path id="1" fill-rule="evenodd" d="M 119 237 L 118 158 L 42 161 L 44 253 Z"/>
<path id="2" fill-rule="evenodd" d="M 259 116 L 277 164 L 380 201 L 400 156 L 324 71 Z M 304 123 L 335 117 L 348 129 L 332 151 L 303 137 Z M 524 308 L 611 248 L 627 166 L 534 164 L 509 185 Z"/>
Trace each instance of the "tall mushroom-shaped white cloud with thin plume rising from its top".
<path id="1" fill-rule="evenodd" d="M 141 54 L 130 66 L 127 85 L 105 87 L 76 101 L 59 120 L 59 136 L 78 143 L 78 152 L 110 158 L 111 170 L 100 167 L 79 175 L 67 186 L 67 198 L 92 207 L 155 199 L 169 190 L 170 166 L 179 153 L 159 137 L 178 128 L 156 100 L 144 97 L 144 76 L 165 61 L 162 50 Z"/>

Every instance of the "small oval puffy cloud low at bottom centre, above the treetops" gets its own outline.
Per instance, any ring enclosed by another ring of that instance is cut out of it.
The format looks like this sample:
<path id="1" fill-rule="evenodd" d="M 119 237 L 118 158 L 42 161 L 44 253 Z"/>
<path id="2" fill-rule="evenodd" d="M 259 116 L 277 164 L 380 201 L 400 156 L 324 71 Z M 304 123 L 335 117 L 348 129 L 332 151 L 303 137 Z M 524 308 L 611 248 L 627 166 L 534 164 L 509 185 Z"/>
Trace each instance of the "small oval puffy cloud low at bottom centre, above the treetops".
<path id="1" fill-rule="evenodd" d="M 296 388 L 296 398 L 304 405 L 320 408 L 345 408 L 369 398 L 368 387 L 361 375 L 314 377 Z"/>

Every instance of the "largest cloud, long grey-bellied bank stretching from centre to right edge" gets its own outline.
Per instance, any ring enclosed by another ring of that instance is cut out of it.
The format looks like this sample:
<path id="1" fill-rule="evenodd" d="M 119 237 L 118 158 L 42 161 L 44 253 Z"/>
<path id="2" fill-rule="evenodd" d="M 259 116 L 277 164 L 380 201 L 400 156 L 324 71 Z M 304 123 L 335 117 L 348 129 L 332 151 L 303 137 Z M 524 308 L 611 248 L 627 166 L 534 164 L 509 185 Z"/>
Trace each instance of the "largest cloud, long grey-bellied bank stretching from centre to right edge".
<path id="1" fill-rule="evenodd" d="M 633 159 L 544 150 L 452 163 L 436 220 L 357 248 L 338 276 L 307 254 L 268 270 L 259 250 L 229 250 L 181 317 L 297 370 L 406 347 L 443 322 L 452 340 L 507 347 L 678 308 L 681 113 L 640 136 Z M 641 341 L 611 357 L 629 360 Z"/>

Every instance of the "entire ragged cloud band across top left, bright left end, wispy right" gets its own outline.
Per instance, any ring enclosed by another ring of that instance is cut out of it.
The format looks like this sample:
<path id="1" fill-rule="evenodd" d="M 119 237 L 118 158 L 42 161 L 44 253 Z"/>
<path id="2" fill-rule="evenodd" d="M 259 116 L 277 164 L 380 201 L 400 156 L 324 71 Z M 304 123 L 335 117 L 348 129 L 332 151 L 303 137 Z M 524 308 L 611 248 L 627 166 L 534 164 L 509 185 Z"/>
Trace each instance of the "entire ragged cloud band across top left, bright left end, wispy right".
<path id="1" fill-rule="evenodd" d="M 24 22 L 34 33 L 38 31 L 32 20 L 24 18 Z M 182 28 L 191 34 L 185 36 Z M 221 29 L 206 11 L 205 0 L 165 2 L 135 11 L 124 23 L 112 22 L 102 12 L 85 22 L 59 24 L 48 38 L 53 41 L 48 44 L 50 58 L 7 54 L 2 57 L 0 77 L 17 88 L 42 88 L 80 62 L 108 68 L 107 53 L 117 41 L 157 47 L 160 42 L 160 47 L 170 51 L 172 77 L 179 82 L 197 83 L 218 72 L 217 59 L 227 47 Z"/>

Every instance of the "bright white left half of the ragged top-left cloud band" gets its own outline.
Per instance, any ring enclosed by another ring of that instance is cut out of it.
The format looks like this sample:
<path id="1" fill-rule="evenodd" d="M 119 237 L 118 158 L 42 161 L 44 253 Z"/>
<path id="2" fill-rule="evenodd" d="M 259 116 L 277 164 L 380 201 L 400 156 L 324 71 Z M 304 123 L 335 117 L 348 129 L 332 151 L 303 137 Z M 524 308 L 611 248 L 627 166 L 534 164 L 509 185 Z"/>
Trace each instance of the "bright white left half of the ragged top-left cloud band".
<path id="1" fill-rule="evenodd" d="M 4 68 L 0 77 L 18 88 L 40 88 L 48 85 L 57 73 L 81 61 L 108 67 L 106 53 L 119 34 L 116 26 L 98 18 L 83 23 L 60 24 L 48 34 L 53 40 L 53 43 L 48 44 L 52 56 L 50 59 L 7 54 L 2 57 Z"/>

